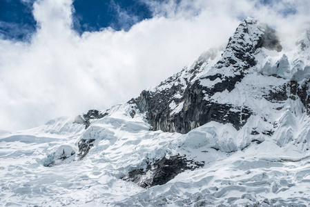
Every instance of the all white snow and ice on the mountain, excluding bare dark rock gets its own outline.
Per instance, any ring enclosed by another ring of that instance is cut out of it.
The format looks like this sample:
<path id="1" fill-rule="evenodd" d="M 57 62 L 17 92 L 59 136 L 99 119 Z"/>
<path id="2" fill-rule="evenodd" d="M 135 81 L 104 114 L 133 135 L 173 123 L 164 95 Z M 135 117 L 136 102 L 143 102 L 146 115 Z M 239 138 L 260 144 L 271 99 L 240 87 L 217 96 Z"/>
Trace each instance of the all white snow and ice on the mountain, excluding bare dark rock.
<path id="1" fill-rule="evenodd" d="M 264 32 L 260 26 L 251 27 L 247 43 L 258 41 L 256 35 Z M 266 97 L 280 90 L 289 96 L 285 84 L 309 81 L 309 30 L 302 35 L 302 49 L 258 48 L 253 54 L 257 64 L 233 90 L 204 97 L 234 106 L 236 112 L 251 108 L 253 115 L 240 130 L 211 121 L 186 134 L 154 131 L 146 114 L 129 101 L 103 110 L 108 115 L 93 119 L 87 129 L 75 118 L 61 117 L 30 130 L 1 131 L 1 206 L 310 206 L 307 108 L 297 96 Z M 194 63 L 150 91 L 175 84 L 184 90 L 197 79 L 211 88 L 221 79 L 204 77 L 219 71 L 235 74 L 231 66 L 214 67 L 231 55 L 222 48 L 209 50 L 195 62 L 202 62 L 196 72 Z M 185 106 L 181 101 L 168 107 L 177 114 Z M 81 140 L 92 144 L 82 159 Z M 132 170 L 174 155 L 204 166 L 151 188 L 123 179 Z"/>

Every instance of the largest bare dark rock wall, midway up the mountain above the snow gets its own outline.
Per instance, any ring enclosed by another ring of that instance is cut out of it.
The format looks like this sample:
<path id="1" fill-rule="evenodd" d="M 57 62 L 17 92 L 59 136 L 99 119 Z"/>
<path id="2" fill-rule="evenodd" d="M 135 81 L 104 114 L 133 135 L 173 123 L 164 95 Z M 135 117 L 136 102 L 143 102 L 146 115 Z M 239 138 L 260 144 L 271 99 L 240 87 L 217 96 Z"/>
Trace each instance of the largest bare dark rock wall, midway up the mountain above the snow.
<path id="1" fill-rule="evenodd" d="M 184 105 L 182 110 L 170 115 L 169 95 L 173 90 L 151 93 L 146 90 L 137 98 L 139 110 L 147 111 L 147 118 L 153 130 L 163 130 L 165 132 L 187 133 L 198 126 L 217 121 L 222 124 L 231 123 L 239 130 L 246 120 L 251 116 L 249 108 L 240 108 L 231 104 L 220 104 L 204 99 L 206 95 L 223 90 L 232 90 L 233 81 L 238 81 L 238 77 L 232 81 L 223 81 L 216 84 L 217 88 L 206 88 L 201 86 L 199 81 L 186 88 L 184 92 Z M 209 93 L 207 92 L 209 90 Z M 175 101 L 176 104 L 180 101 Z"/>

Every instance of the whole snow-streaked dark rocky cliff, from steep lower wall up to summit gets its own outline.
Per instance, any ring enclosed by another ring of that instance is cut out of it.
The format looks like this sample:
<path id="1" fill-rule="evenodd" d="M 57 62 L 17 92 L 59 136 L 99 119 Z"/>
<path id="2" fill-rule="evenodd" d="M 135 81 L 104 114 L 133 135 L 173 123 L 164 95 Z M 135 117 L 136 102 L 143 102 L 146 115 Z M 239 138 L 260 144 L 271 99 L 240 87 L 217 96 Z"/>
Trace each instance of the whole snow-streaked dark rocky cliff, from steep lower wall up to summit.
<path id="1" fill-rule="evenodd" d="M 219 103 L 217 93 L 231 92 L 257 64 L 259 48 L 280 52 L 275 30 L 254 19 L 244 20 L 221 56 L 206 52 L 191 68 L 168 78 L 155 90 L 144 90 L 133 100 L 153 130 L 187 133 L 210 121 L 233 124 L 239 130 L 253 114 L 249 106 Z"/>

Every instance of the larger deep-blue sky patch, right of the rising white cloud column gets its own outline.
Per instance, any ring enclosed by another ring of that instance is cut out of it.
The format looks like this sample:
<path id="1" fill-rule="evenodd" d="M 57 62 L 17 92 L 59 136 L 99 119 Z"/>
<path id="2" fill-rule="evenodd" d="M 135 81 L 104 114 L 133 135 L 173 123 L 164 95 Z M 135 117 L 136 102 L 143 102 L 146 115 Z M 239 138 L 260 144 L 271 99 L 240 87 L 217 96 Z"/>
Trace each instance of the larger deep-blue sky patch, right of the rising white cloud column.
<path id="1" fill-rule="evenodd" d="M 74 28 L 78 32 L 107 27 L 128 30 L 135 23 L 153 17 L 146 3 L 139 0 L 75 0 L 73 7 Z M 122 18 L 122 14 L 126 17 Z"/>

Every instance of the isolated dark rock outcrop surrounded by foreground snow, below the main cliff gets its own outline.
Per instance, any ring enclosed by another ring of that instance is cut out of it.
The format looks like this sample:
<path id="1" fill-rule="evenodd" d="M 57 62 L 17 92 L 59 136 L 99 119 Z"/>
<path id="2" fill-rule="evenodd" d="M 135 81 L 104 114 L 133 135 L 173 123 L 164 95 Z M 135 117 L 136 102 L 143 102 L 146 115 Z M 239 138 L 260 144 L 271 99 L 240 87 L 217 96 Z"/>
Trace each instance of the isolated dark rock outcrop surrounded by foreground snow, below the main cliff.
<path id="1" fill-rule="evenodd" d="M 171 156 L 168 159 L 163 157 L 154 163 L 148 164 L 145 169 L 137 169 L 128 173 L 123 179 L 133 181 L 142 188 L 163 185 L 173 179 L 177 174 L 185 170 L 195 170 L 203 167 L 204 163 L 188 160 L 180 155 Z"/>

